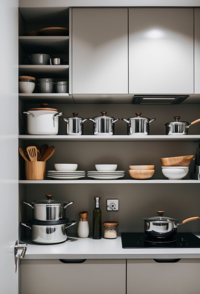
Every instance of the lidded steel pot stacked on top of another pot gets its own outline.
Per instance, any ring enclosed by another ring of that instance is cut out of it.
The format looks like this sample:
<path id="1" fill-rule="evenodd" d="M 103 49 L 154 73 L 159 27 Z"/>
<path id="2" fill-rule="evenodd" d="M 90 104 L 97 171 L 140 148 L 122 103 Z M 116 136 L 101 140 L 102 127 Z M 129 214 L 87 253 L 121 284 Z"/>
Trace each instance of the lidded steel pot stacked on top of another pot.
<path id="1" fill-rule="evenodd" d="M 63 202 L 52 200 L 52 195 L 45 196 L 47 199 L 33 203 L 23 201 L 24 204 L 33 209 L 33 220 L 52 221 L 65 219 L 65 208 L 74 203 L 74 201 Z"/>

